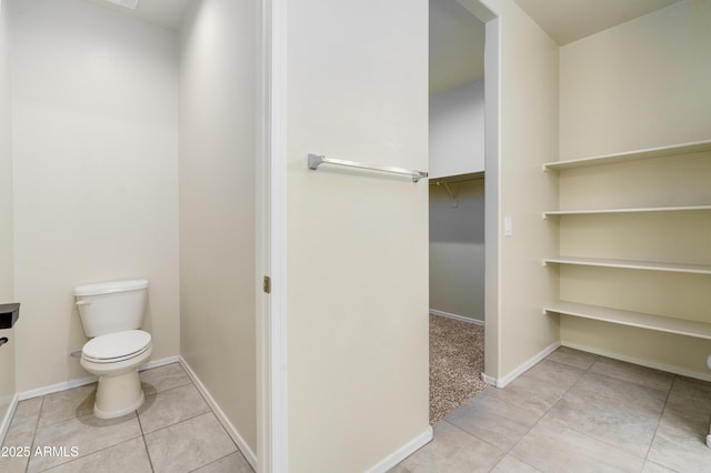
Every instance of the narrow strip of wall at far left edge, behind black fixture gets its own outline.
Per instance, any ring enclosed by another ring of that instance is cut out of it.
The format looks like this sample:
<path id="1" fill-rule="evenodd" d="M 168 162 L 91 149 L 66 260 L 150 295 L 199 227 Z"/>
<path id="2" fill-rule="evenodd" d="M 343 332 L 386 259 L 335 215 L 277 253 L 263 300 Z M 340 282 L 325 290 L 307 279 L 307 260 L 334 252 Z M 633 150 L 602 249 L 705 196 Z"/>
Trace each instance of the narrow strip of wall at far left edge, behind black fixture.
<path id="1" fill-rule="evenodd" d="M 12 254 L 12 113 L 10 87 L 10 12 L 0 0 L 0 303 L 14 302 Z M 14 329 L 0 330 L 10 343 L 0 348 L 0 430 L 14 396 Z M 0 431 L 0 435 L 2 432 Z"/>

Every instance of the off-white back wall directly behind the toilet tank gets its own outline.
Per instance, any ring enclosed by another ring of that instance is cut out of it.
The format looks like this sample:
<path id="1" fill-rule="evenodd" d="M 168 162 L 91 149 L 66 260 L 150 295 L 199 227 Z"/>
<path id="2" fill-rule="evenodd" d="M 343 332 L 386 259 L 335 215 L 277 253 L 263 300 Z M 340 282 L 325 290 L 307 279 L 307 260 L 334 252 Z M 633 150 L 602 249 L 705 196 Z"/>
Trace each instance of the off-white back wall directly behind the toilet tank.
<path id="1" fill-rule="evenodd" d="M 177 37 L 79 0 L 12 7 L 18 391 L 88 375 L 77 284 L 147 278 L 152 358 L 177 355 Z"/>

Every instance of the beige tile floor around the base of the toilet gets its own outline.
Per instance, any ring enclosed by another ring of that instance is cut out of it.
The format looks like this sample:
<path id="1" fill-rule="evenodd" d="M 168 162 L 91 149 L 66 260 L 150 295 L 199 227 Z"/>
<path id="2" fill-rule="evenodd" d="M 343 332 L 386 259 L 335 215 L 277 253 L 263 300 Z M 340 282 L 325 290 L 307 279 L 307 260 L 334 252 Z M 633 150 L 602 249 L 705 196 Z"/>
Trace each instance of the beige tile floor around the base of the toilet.
<path id="1" fill-rule="evenodd" d="M 92 415 L 96 384 L 21 401 L 3 443 L 16 456 L 0 456 L 0 472 L 252 472 L 179 363 L 141 383 L 146 403 L 108 421 Z"/>

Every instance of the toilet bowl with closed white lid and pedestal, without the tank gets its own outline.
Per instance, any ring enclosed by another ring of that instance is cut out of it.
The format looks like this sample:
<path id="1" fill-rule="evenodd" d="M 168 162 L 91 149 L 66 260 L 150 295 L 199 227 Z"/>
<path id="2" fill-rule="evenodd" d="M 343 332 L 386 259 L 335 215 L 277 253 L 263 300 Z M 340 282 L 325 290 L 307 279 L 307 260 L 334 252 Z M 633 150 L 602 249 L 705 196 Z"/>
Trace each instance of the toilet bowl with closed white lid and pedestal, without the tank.
<path id="1" fill-rule="evenodd" d="M 87 342 L 80 364 L 99 376 L 93 414 L 113 419 L 136 411 L 144 396 L 138 368 L 151 355 L 151 335 L 141 330 L 128 330 L 100 335 Z"/>

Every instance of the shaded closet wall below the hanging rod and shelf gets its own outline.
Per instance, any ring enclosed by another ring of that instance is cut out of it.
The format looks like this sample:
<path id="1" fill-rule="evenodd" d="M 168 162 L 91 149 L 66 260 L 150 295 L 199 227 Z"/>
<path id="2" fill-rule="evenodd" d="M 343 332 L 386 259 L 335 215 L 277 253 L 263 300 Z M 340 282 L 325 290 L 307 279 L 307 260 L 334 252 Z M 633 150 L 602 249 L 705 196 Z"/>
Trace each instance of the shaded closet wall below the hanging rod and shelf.
<path id="1" fill-rule="evenodd" d="M 483 321 L 484 181 L 448 185 L 430 185 L 430 309 Z"/>

